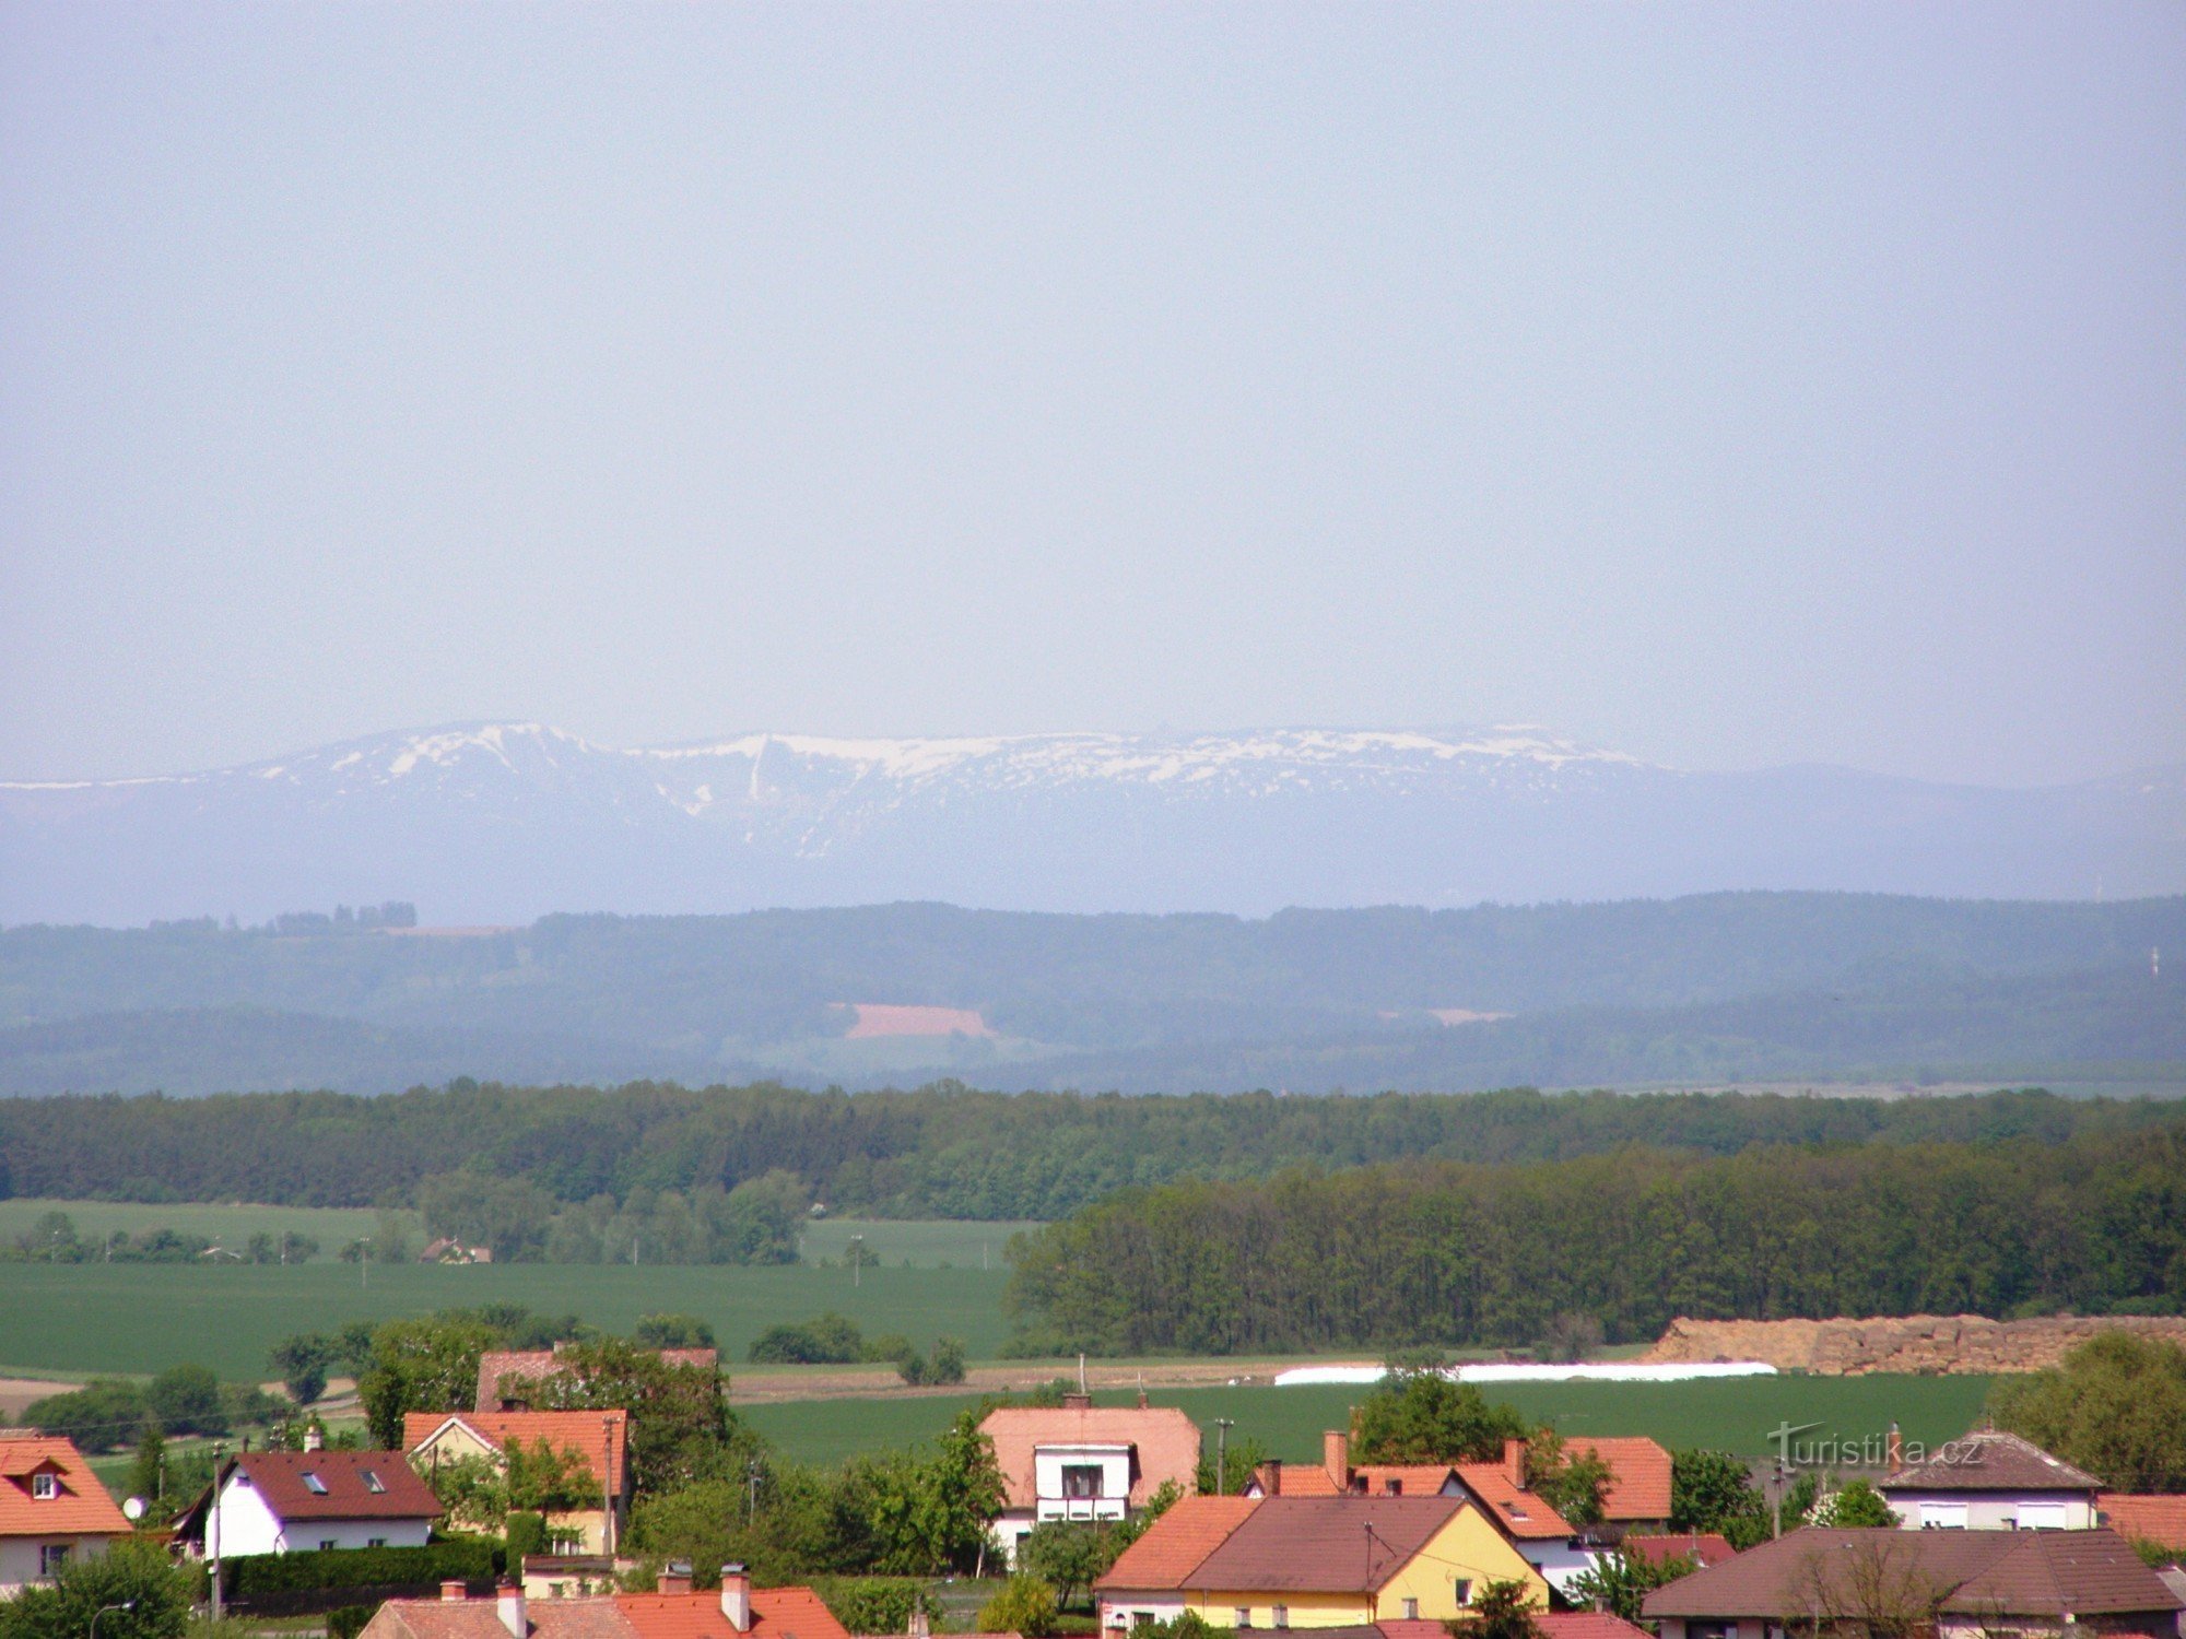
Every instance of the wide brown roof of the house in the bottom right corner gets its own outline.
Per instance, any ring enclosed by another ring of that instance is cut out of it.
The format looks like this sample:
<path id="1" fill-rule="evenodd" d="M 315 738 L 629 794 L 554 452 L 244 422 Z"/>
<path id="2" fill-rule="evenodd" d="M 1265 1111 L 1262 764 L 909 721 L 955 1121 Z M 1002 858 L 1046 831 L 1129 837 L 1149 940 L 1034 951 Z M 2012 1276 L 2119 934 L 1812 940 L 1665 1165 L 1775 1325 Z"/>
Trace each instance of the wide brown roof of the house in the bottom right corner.
<path id="1" fill-rule="evenodd" d="M 1646 1595 L 1653 1617 L 1782 1617 L 1817 1576 L 1849 1597 L 1882 1582 L 1970 1615 L 2120 1615 L 2186 1608 L 2109 1530 L 1904 1532 L 1808 1525 Z M 2175 1626 L 2175 1624 L 2173 1624 Z"/>

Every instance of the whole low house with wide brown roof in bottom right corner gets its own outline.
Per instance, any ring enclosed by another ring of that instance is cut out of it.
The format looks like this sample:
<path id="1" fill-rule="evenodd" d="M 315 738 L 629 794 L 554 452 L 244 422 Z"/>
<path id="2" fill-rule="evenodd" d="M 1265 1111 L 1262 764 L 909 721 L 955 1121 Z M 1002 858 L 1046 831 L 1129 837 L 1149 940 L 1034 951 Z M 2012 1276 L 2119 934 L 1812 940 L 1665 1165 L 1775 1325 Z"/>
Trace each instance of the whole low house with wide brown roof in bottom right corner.
<path id="1" fill-rule="evenodd" d="M 1679 1578 L 1642 1611 L 1661 1639 L 1784 1639 L 1823 1630 L 1935 1639 L 2179 1632 L 2179 1600 L 2109 1530 L 1823 1530 Z"/>

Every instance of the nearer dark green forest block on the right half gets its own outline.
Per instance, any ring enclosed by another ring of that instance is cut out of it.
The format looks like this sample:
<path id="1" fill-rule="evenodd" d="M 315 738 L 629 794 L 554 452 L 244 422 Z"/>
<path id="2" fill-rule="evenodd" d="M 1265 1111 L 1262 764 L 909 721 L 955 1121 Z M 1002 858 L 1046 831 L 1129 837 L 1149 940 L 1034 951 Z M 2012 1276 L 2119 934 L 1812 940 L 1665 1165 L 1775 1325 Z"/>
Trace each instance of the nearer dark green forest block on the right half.
<path id="1" fill-rule="evenodd" d="M 2175 1313 L 2186 1119 L 2053 1143 L 1624 1149 L 1126 1191 L 1012 1241 L 1027 1346 L 1611 1342 L 1674 1316 Z"/>

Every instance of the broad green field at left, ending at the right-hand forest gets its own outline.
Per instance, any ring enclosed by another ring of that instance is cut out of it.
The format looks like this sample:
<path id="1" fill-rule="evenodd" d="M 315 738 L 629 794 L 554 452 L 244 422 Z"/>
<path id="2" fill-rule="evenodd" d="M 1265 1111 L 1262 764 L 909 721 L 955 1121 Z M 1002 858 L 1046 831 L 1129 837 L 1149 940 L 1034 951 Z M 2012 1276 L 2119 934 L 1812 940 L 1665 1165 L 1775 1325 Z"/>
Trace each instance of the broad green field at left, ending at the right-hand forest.
<path id="1" fill-rule="evenodd" d="M 973 1357 L 992 1357 L 1010 1333 L 1006 1278 L 977 1267 L 879 1267 L 853 1285 L 850 1270 L 811 1265 L 0 1263 L 0 1375 L 155 1372 L 197 1361 L 230 1381 L 258 1381 L 267 1348 L 289 1333 L 479 1302 L 577 1313 L 610 1331 L 630 1331 L 645 1313 L 695 1313 L 732 1366 L 767 1326 L 822 1309 L 868 1333 L 901 1331 L 918 1344 L 953 1335 Z"/>

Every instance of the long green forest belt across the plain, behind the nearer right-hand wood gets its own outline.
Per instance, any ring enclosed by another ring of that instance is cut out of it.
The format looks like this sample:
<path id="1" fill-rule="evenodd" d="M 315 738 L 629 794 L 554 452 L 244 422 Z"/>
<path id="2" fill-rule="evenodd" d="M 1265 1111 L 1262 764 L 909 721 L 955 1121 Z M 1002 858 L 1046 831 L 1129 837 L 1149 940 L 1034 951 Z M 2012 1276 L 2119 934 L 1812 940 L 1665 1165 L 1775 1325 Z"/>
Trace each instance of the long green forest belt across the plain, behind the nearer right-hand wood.
<path id="1" fill-rule="evenodd" d="M 1760 1145 L 2059 1145 L 2171 1130 L 2175 1104 L 1773 1095 L 1076 1097 L 964 1088 L 796 1093 L 455 1086 L 393 1097 L 0 1101 L 0 1193 L 404 1204 L 455 1171 L 619 1204 L 785 1169 L 833 1211 L 1060 1217 L 1117 1189 L 1362 1163 L 1548 1163 Z M 2037 1189 L 2040 1178 L 2029 1178 Z M 1830 1222 L 1830 1213 L 1821 1222 Z"/>

